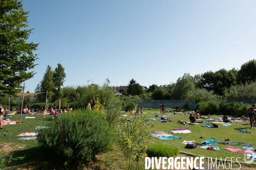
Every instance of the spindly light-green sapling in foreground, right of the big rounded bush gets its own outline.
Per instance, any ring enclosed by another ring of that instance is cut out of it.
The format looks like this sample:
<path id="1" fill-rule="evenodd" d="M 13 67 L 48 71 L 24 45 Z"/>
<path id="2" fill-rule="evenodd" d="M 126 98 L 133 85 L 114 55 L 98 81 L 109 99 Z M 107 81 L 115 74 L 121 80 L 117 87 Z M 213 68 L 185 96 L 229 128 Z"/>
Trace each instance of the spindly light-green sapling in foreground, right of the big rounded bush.
<path id="1" fill-rule="evenodd" d="M 140 169 L 140 161 L 147 156 L 146 142 L 150 127 L 144 116 L 134 117 L 130 119 L 130 123 L 119 125 L 118 144 L 125 155 L 128 170 L 130 167 L 134 167 L 135 170 Z M 131 161 L 134 166 L 131 166 Z"/>

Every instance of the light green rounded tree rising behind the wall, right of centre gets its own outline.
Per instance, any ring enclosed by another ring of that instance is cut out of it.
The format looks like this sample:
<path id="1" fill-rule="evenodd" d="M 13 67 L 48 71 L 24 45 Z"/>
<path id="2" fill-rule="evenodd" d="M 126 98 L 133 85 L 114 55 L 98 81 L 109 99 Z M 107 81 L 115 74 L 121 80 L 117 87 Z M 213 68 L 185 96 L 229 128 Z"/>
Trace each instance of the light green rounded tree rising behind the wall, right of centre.
<path id="1" fill-rule="evenodd" d="M 194 89 L 194 83 L 190 79 L 189 74 L 179 77 L 171 92 L 172 99 L 186 99 L 189 91 Z"/>

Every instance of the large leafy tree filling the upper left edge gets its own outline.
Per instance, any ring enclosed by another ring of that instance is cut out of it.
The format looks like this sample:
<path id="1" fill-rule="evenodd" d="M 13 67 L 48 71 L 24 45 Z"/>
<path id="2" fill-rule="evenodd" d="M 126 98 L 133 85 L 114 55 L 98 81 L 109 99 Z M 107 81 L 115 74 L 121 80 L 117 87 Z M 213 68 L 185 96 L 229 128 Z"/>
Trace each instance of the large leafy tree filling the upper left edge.
<path id="1" fill-rule="evenodd" d="M 0 0 L 0 96 L 22 91 L 22 82 L 32 78 L 35 67 L 33 54 L 38 44 L 26 40 L 34 29 L 28 27 L 21 1 Z"/>

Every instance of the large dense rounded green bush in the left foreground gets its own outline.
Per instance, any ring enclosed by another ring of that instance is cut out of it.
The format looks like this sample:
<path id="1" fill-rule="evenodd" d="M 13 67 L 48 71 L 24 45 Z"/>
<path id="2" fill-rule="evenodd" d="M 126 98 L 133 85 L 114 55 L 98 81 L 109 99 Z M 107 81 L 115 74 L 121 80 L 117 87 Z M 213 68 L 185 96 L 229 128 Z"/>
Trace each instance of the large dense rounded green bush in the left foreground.
<path id="1" fill-rule="evenodd" d="M 38 143 L 58 154 L 65 167 L 81 167 L 113 144 L 113 131 L 104 115 L 92 110 L 75 111 L 54 119 L 38 131 Z"/>

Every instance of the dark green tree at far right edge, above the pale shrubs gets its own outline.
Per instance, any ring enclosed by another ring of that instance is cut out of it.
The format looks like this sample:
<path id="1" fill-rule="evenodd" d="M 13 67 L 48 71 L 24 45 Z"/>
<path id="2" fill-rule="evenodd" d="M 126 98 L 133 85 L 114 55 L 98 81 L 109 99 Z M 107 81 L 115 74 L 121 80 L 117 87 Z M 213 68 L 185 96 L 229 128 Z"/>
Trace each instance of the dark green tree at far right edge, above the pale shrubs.
<path id="1" fill-rule="evenodd" d="M 250 60 L 241 65 L 238 71 L 238 82 L 245 84 L 245 82 L 256 80 L 256 59 Z"/>

